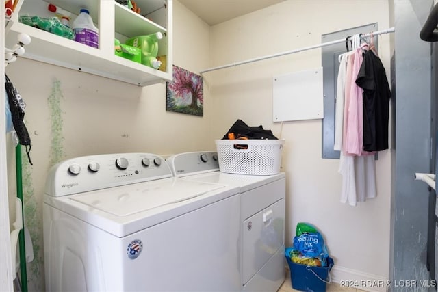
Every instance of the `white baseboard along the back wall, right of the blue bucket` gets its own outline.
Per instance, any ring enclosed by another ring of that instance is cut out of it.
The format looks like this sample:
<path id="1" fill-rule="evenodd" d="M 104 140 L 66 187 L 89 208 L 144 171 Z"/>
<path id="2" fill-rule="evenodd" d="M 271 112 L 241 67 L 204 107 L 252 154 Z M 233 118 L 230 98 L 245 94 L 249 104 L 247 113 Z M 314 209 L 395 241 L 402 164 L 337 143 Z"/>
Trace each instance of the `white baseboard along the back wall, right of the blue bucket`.
<path id="1" fill-rule="evenodd" d="M 355 269 L 334 265 L 330 271 L 331 281 L 341 287 L 354 287 L 363 291 L 386 292 L 388 279 L 383 276 L 364 273 Z"/>

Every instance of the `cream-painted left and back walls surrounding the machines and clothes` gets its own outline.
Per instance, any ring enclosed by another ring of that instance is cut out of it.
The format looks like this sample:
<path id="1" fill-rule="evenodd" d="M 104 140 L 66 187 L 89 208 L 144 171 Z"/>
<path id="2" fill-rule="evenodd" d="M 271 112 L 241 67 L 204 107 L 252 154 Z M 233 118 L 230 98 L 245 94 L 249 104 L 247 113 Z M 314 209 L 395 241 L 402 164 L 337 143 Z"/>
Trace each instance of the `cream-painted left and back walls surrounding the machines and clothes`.
<path id="1" fill-rule="evenodd" d="M 372 3 L 370 3 L 372 2 Z M 370 10 L 372 7 L 372 10 Z M 378 22 L 389 27 L 387 1 L 285 1 L 227 23 L 209 27 L 178 1 L 174 2 L 175 65 L 200 72 L 211 66 L 307 47 L 321 34 Z M 354 15 L 354 16 L 352 16 Z M 389 38 L 379 39 L 389 72 Z M 54 80 L 62 98 L 64 158 L 110 152 L 175 152 L 214 150 L 237 118 L 262 124 L 285 139 L 283 171 L 287 174 L 287 245 L 297 222 L 315 224 L 339 267 L 388 276 L 389 152 L 377 161 L 378 197 L 357 207 L 339 202 L 339 161 L 321 159 L 321 121 L 272 123 L 272 76 L 321 66 L 319 49 L 209 72 L 204 75 L 204 116 L 166 112 L 164 83 L 138 88 L 28 59 L 6 68 L 27 103 L 31 133 L 31 196 L 25 204 L 35 213 L 31 235 L 40 246 L 28 267 L 30 291 L 43 289 L 42 193 L 50 167 L 51 117 L 48 98 Z M 9 144 L 9 189 L 15 196 L 14 160 Z M 24 158 L 23 158 L 24 160 Z M 13 210 L 13 208 L 11 208 Z M 11 220 L 13 221 L 13 220 Z M 348 280 L 348 279 L 344 279 Z"/>

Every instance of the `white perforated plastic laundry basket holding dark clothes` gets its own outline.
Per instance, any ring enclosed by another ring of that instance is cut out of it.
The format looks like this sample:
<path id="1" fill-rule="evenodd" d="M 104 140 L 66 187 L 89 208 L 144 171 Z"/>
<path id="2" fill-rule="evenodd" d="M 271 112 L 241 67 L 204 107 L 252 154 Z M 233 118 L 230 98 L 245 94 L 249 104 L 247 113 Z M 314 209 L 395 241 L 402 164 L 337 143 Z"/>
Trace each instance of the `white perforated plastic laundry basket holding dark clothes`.
<path id="1" fill-rule="evenodd" d="M 231 174 L 272 175 L 280 172 L 284 140 L 215 140 L 219 170 Z"/>

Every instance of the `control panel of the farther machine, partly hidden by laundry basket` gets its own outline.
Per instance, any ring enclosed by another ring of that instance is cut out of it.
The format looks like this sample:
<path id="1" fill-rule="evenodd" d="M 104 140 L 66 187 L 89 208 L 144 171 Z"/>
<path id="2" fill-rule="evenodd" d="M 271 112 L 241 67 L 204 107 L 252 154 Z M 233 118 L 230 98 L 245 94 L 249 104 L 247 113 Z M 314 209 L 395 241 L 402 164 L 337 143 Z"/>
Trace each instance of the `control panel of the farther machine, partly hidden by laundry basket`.
<path id="1" fill-rule="evenodd" d="M 185 152 L 167 159 L 174 176 L 214 172 L 219 170 L 217 152 Z"/>

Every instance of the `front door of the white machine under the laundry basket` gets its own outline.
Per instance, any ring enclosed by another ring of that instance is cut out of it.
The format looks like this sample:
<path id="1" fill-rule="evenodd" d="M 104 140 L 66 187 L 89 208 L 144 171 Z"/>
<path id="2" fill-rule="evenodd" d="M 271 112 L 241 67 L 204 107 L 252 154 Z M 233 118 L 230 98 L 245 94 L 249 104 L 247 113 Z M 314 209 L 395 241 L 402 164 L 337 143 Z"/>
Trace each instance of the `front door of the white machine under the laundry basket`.
<path id="1" fill-rule="evenodd" d="M 284 223 L 284 199 L 244 220 L 243 284 L 246 284 L 279 248 L 283 248 Z"/>

